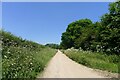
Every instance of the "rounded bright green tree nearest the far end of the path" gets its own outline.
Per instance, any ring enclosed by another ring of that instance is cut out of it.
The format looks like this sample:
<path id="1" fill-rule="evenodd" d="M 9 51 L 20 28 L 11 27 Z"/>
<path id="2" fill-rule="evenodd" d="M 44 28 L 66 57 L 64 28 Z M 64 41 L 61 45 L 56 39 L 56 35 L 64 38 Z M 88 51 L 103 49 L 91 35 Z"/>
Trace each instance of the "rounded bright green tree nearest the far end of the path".
<path id="1" fill-rule="evenodd" d="M 75 45 L 75 40 L 81 36 L 82 28 L 92 24 L 89 19 L 82 19 L 68 25 L 66 32 L 62 34 L 61 45 L 63 48 L 71 48 Z"/>

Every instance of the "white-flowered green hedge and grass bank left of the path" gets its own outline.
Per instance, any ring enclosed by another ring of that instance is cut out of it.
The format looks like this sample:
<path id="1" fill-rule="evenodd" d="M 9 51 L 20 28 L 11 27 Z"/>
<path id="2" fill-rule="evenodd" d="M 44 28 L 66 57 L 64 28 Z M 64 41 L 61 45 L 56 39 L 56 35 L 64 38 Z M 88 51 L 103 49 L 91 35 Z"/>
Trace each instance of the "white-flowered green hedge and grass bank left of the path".
<path id="1" fill-rule="evenodd" d="M 56 50 L 0 30 L 2 78 L 36 78 Z"/>

